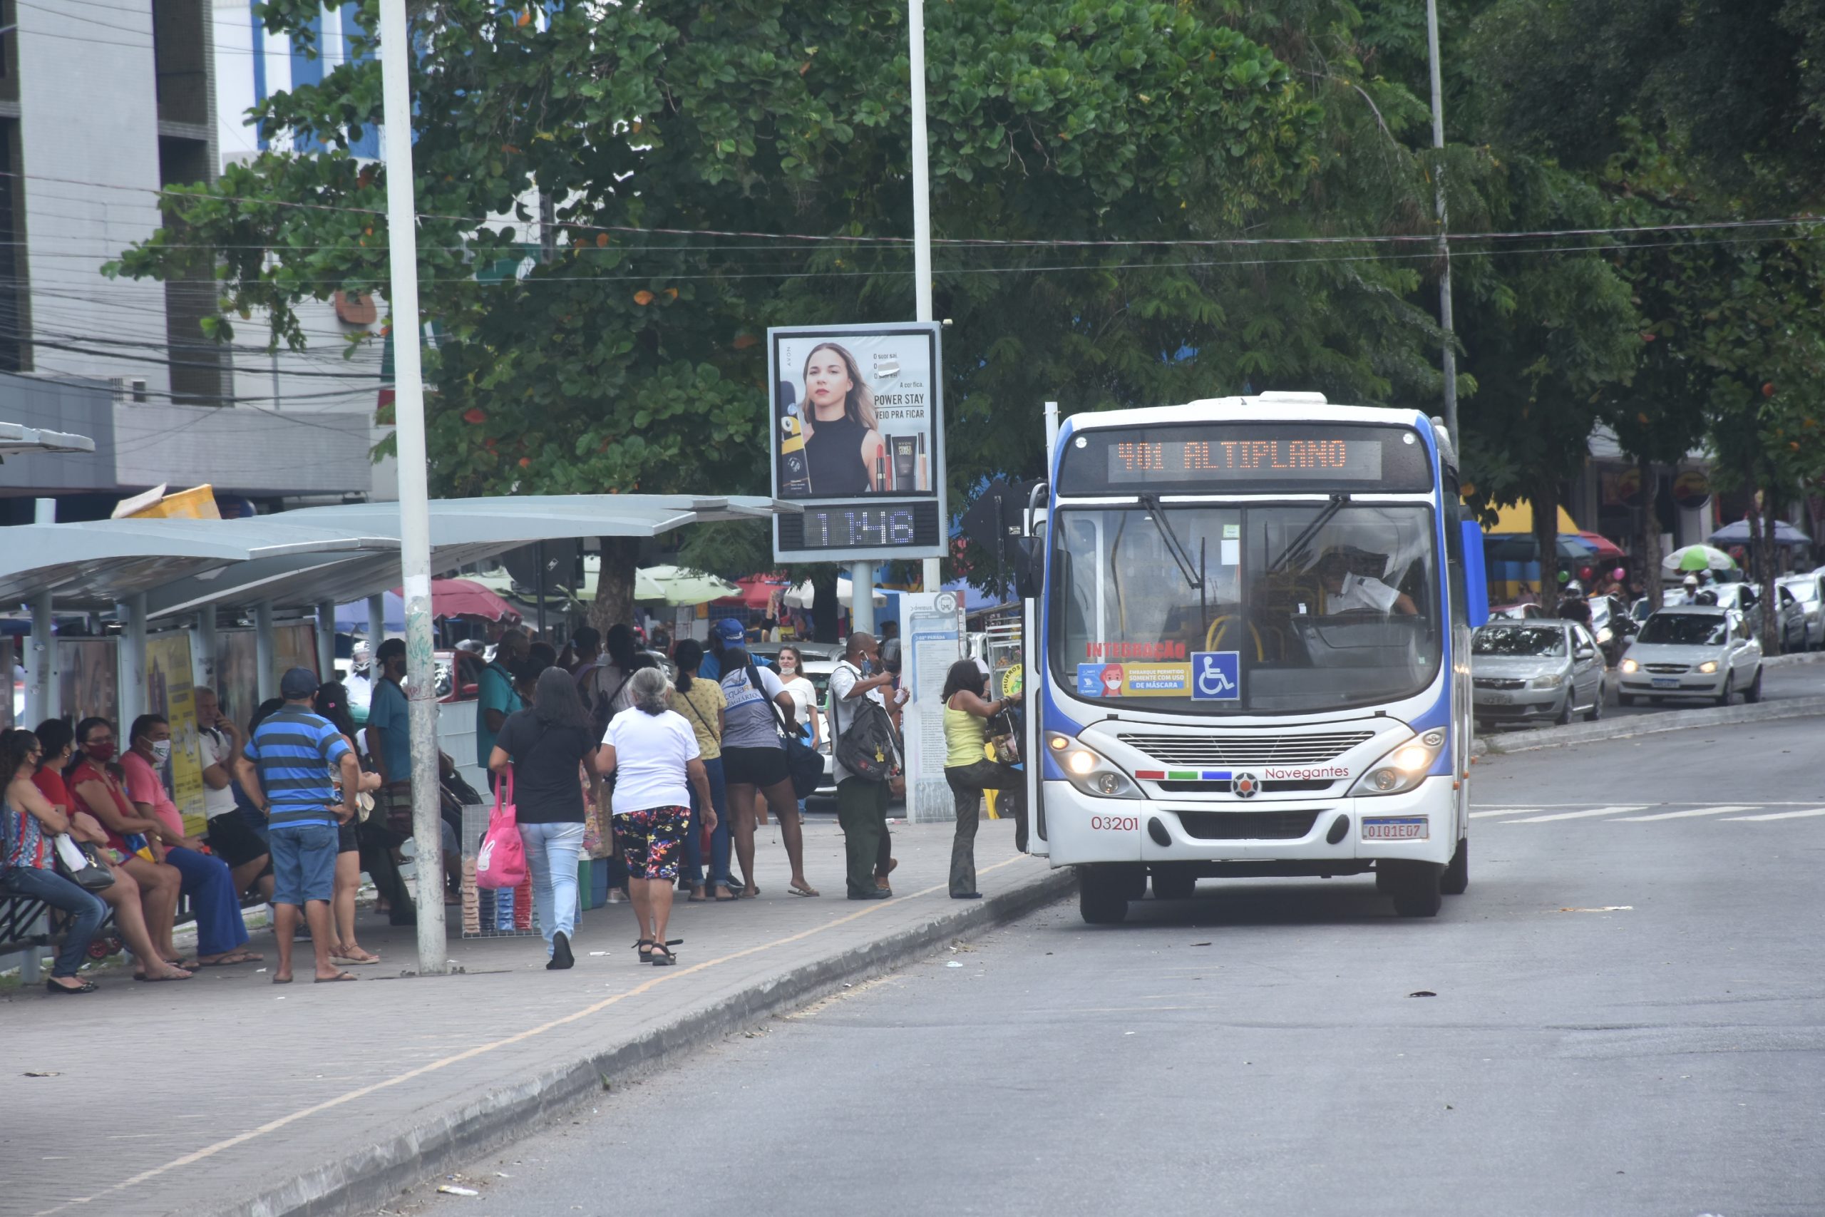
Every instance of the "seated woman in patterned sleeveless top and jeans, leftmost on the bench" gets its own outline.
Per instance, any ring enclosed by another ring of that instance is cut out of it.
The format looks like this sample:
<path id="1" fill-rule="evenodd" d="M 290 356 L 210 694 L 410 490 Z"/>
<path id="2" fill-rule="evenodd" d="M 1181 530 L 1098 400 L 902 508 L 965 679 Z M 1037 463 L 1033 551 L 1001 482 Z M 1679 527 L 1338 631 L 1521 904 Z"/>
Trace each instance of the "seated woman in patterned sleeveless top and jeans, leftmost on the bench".
<path id="1" fill-rule="evenodd" d="M 44 987 L 51 993 L 95 993 L 95 982 L 77 976 L 77 969 L 82 967 L 89 941 L 108 918 L 108 905 L 57 874 L 51 837 L 69 832 L 69 817 L 62 808 L 46 803 L 31 785 L 38 757 L 38 737 L 31 732 L 0 735 L 0 785 L 5 788 L 5 801 L 0 803 L 5 832 L 0 832 L 0 839 L 7 843 L 0 850 L 0 890 L 42 900 L 69 916 L 64 925 L 64 945 Z"/>

